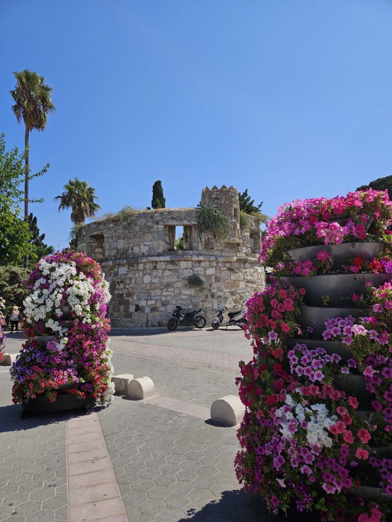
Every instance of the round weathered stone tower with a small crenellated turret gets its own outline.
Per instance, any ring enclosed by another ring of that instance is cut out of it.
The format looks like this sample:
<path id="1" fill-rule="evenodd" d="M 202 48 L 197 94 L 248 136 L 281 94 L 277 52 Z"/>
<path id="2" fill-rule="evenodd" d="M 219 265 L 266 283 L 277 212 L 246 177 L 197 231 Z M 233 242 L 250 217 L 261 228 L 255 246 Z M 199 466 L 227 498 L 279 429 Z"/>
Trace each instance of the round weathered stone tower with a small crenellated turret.
<path id="1" fill-rule="evenodd" d="M 215 205 L 228 217 L 228 238 L 197 232 L 198 209 L 158 209 L 86 224 L 78 250 L 101 263 L 110 281 L 109 317 L 116 326 L 166 325 L 175 305 L 203 307 L 211 317 L 222 302 L 240 306 L 264 288 L 257 260 L 260 229 L 249 217 L 240 228 L 239 199 L 233 186 L 203 189 L 202 206 Z M 175 250 L 176 227 L 183 227 L 184 250 Z M 193 286 L 190 276 L 198 276 Z"/>

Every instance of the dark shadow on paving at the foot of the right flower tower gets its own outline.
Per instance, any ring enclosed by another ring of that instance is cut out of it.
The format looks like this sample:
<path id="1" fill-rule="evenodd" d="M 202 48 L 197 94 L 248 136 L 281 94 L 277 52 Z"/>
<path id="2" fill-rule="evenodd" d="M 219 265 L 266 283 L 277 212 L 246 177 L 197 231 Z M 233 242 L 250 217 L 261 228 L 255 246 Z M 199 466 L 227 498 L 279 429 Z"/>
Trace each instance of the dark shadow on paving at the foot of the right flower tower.
<path id="1" fill-rule="evenodd" d="M 214 500 L 201 509 L 188 509 L 187 517 L 178 522 L 273 522 L 276 518 L 268 513 L 258 495 L 244 490 L 223 491 L 221 500 Z"/>

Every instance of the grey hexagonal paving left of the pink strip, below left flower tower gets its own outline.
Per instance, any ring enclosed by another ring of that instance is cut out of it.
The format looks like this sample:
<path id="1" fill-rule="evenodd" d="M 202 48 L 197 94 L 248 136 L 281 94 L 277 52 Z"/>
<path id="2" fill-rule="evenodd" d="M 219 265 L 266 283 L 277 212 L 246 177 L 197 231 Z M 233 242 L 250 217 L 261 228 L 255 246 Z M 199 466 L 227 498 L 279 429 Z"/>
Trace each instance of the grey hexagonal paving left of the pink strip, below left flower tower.
<path id="1" fill-rule="evenodd" d="M 68 520 L 65 461 L 67 416 L 21 420 L 11 382 L 0 375 L 0 520 Z"/>

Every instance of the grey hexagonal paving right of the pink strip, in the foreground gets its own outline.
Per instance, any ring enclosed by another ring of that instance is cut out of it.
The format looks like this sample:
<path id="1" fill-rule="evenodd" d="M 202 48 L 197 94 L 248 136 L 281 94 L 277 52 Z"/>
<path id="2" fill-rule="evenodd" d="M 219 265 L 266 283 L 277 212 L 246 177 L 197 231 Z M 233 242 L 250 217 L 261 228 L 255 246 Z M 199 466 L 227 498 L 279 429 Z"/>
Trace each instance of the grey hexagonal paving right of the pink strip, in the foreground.
<path id="1" fill-rule="evenodd" d="M 236 430 L 122 397 L 98 417 L 130 522 L 273 520 L 236 480 Z"/>

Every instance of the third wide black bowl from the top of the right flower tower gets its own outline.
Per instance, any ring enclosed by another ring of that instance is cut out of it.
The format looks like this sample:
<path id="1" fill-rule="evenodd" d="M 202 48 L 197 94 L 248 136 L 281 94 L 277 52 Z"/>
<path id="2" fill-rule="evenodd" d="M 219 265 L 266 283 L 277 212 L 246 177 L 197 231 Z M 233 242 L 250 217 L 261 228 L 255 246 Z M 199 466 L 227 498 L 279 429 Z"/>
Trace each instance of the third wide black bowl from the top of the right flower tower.
<path id="1" fill-rule="evenodd" d="M 356 308 L 353 306 L 301 306 L 298 322 L 304 331 L 306 331 L 308 326 L 313 328 L 313 332 L 309 334 L 310 339 L 319 339 L 322 338 L 327 319 L 348 317 L 349 315 L 353 317 L 367 317 L 371 312 L 371 308 Z"/>

